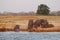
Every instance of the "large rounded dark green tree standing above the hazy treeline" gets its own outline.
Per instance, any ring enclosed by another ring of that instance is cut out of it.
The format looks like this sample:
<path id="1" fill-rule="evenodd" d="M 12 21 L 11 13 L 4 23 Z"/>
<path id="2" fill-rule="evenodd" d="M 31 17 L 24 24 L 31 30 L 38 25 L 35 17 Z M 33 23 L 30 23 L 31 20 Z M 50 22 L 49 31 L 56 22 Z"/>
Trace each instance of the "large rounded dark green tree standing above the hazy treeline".
<path id="1" fill-rule="evenodd" d="M 39 15 L 48 15 L 50 12 L 49 7 L 45 4 L 41 4 L 38 6 L 37 14 Z"/>

